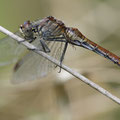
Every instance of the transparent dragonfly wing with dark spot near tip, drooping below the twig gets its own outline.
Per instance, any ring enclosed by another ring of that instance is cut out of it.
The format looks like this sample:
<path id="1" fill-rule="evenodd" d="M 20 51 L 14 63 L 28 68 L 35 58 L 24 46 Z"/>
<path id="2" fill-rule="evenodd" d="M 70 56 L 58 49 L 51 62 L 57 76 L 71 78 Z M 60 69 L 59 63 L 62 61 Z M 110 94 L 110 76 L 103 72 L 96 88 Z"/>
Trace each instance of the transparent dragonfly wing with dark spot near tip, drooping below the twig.
<path id="1" fill-rule="evenodd" d="M 39 39 L 35 40 L 33 44 L 41 48 Z M 64 48 L 64 43 L 46 41 L 46 44 L 51 50 L 51 52 L 48 54 L 57 60 L 60 60 Z M 19 67 L 14 71 L 12 83 L 36 80 L 38 78 L 44 77 L 55 68 L 55 65 L 52 62 L 32 51 L 29 51 L 21 60 L 19 60 L 17 66 Z"/>

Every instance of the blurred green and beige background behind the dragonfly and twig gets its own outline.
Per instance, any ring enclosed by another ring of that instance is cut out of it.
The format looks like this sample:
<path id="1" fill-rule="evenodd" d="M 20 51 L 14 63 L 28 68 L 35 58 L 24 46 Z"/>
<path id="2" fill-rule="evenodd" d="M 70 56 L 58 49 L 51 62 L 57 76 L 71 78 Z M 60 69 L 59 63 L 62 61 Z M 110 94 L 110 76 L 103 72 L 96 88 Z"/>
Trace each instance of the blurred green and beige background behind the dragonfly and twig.
<path id="1" fill-rule="evenodd" d="M 0 25 L 15 32 L 46 16 L 77 27 L 120 56 L 119 0 L 1 0 Z M 0 33 L 0 38 L 4 37 Z M 7 49 L 6 49 L 7 51 Z M 120 98 L 120 69 L 91 51 L 69 46 L 64 63 Z M 119 120 L 120 107 L 62 70 L 13 85 L 11 66 L 0 68 L 0 120 Z"/>

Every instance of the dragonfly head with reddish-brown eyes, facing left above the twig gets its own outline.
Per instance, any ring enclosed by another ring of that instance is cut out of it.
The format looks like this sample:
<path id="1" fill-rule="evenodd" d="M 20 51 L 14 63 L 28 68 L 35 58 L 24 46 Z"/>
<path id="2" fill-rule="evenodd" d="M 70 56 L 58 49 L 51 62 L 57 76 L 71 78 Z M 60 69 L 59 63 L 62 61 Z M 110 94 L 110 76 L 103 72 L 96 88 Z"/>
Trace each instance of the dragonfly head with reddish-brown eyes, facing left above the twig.
<path id="1" fill-rule="evenodd" d="M 20 25 L 19 31 L 25 39 L 34 39 L 33 27 L 30 21 L 26 21 L 24 24 Z"/>

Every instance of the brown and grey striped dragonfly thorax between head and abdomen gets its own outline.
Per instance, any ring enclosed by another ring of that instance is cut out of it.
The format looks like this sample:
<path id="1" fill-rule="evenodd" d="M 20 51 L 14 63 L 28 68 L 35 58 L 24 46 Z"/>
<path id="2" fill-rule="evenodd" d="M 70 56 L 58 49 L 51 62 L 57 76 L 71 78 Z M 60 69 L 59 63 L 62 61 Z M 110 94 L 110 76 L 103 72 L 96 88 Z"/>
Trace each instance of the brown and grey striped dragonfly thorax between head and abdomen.
<path id="1" fill-rule="evenodd" d="M 43 38 L 56 37 L 64 34 L 65 25 L 62 21 L 49 16 L 38 24 L 38 31 Z"/>

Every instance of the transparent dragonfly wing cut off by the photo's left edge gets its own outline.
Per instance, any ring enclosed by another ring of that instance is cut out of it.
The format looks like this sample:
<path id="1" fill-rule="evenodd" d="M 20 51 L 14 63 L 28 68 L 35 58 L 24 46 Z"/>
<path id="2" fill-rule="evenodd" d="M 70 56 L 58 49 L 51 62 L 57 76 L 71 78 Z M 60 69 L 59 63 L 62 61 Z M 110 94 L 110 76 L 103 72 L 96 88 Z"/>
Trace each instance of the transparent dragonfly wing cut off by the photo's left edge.
<path id="1" fill-rule="evenodd" d="M 20 36 L 19 32 L 15 34 Z M 24 46 L 18 44 L 9 36 L 0 39 L 0 66 L 15 63 L 20 55 L 25 52 L 25 49 Z"/>

